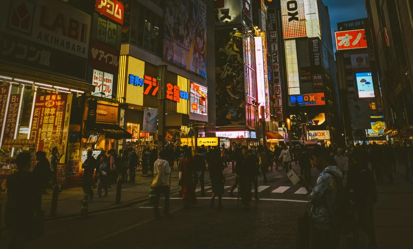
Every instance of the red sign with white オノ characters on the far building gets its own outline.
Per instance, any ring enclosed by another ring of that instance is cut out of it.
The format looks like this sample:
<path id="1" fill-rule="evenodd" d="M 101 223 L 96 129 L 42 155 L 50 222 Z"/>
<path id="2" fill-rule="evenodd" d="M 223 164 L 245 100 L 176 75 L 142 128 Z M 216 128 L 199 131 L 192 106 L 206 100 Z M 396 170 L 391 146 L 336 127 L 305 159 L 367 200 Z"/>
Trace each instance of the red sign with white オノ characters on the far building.
<path id="1" fill-rule="evenodd" d="M 337 50 L 367 48 L 364 30 L 336 31 Z"/>

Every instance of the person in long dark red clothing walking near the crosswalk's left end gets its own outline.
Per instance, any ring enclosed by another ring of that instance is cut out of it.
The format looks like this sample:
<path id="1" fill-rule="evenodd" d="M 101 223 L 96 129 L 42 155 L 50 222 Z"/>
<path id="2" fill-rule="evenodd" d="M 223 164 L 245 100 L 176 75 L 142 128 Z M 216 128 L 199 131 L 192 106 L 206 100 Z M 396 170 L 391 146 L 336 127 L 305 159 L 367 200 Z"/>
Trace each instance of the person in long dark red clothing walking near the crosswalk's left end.
<path id="1" fill-rule="evenodd" d="M 186 149 L 184 157 L 180 163 L 180 177 L 182 187 L 182 198 L 184 199 L 184 207 L 190 208 L 191 205 L 197 204 L 194 186 L 194 158 L 192 157 L 191 149 Z"/>

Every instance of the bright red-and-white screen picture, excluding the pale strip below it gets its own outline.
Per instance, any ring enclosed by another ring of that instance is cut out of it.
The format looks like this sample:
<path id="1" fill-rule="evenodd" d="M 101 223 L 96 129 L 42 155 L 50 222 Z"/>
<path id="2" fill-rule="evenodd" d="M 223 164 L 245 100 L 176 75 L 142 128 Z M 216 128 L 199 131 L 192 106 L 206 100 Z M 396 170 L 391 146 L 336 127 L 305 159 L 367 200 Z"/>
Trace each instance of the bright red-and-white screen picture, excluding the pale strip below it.
<path id="1" fill-rule="evenodd" d="M 191 113 L 208 115 L 208 88 L 191 81 L 190 86 L 190 110 Z"/>

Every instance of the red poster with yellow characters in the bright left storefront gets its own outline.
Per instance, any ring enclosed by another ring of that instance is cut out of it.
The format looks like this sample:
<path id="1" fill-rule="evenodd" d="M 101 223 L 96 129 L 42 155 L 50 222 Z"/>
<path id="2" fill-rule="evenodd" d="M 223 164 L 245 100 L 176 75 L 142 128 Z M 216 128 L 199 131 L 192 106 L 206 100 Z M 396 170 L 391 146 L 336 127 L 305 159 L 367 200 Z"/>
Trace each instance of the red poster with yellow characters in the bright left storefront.
<path id="1" fill-rule="evenodd" d="M 54 146 L 61 144 L 65 107 L 66 95 L 36 96 L 30 133 L 30 139 L 35 140 L 36 151 L 43 150 L 49 155 Z"/>

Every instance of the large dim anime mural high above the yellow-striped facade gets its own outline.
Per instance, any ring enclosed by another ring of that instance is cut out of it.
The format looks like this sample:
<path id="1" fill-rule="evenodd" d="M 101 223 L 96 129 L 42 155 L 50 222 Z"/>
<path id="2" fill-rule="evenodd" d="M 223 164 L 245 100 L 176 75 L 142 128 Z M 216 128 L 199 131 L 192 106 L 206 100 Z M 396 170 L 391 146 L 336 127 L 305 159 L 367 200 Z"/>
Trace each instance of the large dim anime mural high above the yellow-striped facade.
<path id="1" fill-rule="evenodd" d="M 165 1 L 164 59 L 206 77 L 206 5 Z"/>

